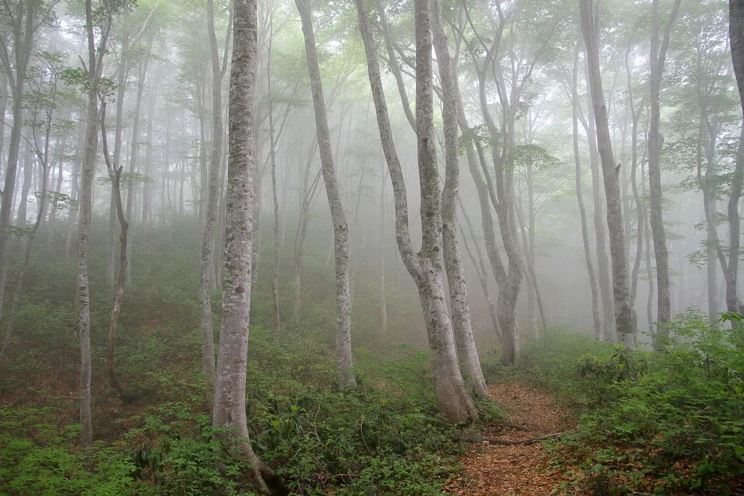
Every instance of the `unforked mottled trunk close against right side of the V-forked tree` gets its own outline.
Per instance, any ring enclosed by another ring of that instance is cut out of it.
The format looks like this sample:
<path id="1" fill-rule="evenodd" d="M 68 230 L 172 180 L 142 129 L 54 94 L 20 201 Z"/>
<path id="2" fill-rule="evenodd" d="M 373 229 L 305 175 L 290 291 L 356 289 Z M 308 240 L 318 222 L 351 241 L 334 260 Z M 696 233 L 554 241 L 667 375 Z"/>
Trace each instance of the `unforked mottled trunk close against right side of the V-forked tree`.
<path id="1" fill-rule="evenodd" d="M 458 358 L 465 381 L 473 390 L 487 397 L 486 381 L 478 358 L 478 349 L 472 335 L 470 307 L 467 298 L 465 271 L 457 242 L 457 199 L 460 188 L 460 164 L 458 144 L 458 109 L 455 95 L 455 68 L 447 48 L 447 38 L 442 25 L 439 0 L 432 1 L 432 28 L 434 50 L 439 63 L 439 79 L 442 85 L 442 120 L 444 123 L 445 177 L 442 191 L 442 245 L 444 267 L 452 300 L 452 329 L 455 332 Z"/>

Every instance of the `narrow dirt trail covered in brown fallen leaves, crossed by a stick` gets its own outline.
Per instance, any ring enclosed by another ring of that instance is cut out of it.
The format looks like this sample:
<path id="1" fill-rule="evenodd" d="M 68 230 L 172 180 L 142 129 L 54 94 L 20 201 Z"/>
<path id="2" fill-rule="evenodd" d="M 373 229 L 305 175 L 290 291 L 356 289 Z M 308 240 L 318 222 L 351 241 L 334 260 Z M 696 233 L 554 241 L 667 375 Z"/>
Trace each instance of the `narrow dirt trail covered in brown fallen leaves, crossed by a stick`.
<path id="1" fill-rule="evenodd" d="M 568 410 L 540 390 L 522 384 L 493 384 L 488 390 L 507 410 L 507 422 L 519 428 L 494 428 L 484 433 L 484 439 L 522 441 L 574 427 Z M 548 467 L 539 443 L 476 444 L 461 461 L 467 477 L 450 483 L 449 495 L 548 496 L 566 480 L 562 471 Z"/>

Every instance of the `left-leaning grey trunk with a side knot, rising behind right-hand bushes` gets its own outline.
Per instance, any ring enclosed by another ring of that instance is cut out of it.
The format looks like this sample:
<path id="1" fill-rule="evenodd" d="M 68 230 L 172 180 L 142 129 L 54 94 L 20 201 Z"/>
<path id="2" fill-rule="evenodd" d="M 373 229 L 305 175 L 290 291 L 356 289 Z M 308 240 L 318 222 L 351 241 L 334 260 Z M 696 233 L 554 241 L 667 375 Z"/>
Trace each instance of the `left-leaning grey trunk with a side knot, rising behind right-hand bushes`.
<path id="1" fill-rule="evenodd" d="M 607 107 L 602 89 L 602 74 L 599 61 L 599 10 L 592 8 L 591 0 L 580 0 L 581 30 L 586 44 L 586 59 L 589 65 L 589 89 L 594 106 L 597 125 L 597 147 L 602 161 L 602 172 L 607 202 L 607 225 L 609 248 L 612 257 L 612 279 L 615 296 L 615 325 L 618 339 L 627 347 L 635 347 L 635 329 L 628 304 L 628 267 L 625 257 L 625 235 L 623 213 L 620 206 L 619 167 L 615 167 L 612 141 L 609 135 Z"/>

